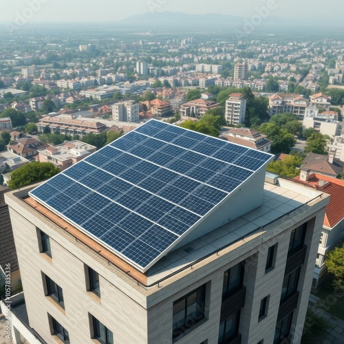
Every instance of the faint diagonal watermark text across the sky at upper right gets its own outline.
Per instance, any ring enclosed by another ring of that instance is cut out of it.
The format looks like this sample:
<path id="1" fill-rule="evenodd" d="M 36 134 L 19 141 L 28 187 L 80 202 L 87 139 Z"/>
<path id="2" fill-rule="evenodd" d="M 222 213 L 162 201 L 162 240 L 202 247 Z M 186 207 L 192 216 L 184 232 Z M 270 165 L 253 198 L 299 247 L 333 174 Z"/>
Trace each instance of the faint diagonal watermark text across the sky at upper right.
<path id="1" fill-rule="evenodd" d="M 237 39 L 246 36 L 255 31 L 255 29 L 263 23 L 263 21 L 268 18 L 272 11 L 277 10 L 278 3 L 284 0 L 267 0 L 266 6 L 261 8 L 255 8 L 255 14 L 250 17 L 250 19 L 245 19 L 242 23 L 242 26 L 239 29 L 235 29 L 234 33 L 237 36 Z"/>

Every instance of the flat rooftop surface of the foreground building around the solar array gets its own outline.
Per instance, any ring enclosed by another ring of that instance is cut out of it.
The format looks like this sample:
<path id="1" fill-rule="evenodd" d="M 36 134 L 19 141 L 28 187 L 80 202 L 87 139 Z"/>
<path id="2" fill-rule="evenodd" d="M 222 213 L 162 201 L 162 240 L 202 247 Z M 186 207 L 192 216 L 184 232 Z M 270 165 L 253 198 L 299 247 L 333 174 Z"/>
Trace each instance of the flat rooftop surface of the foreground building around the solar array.
<path id="1" fill-rule="evenodd" d="M 152 286 L 177 272 L 182 272 L 182 270 L 191 267 L 198 261 L 202 261 L 202 259 L 217 259 L 217 252 L 230 249 L 233 245 L 244 244 L 252 235 L 264 235 L 268 231 L 269 224 L 306 204 L 317 202 L 317 200 L 320 201 L 321 195 L 324 194 L 291 180 L 283 178 L 278 180 L 278 184 L 265 182 L 263 204 L 259 208 L 191 241 L 178 250 L 170 252 L 146 273 L 140 272 L 117 255 L 114 255 L 105 246 L 52 213 L 32 197 L 26 197 L 25 203 L 39 211 L 60 228 L 63 228 L 67 233 L 76 237 L 78 241 L 97 252 L 98 255 L 107 259 L 122 272 L 125 272 L 126 275 L 140 282 L 142 286 Z"/>

